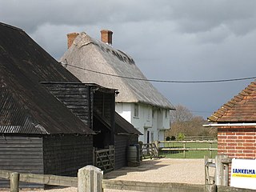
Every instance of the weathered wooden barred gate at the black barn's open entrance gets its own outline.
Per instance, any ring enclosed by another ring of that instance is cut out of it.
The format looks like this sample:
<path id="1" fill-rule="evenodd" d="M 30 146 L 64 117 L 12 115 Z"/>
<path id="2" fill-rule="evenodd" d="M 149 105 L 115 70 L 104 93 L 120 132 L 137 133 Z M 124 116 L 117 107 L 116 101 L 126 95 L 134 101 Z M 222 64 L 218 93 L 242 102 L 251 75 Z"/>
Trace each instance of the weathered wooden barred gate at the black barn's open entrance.
<path id="1" fill-rule="evenodd" d="M 114 146 L 109 146 L 109 149 L 94 150 L 94 166 L 104 173 L 114 170 Z"/>

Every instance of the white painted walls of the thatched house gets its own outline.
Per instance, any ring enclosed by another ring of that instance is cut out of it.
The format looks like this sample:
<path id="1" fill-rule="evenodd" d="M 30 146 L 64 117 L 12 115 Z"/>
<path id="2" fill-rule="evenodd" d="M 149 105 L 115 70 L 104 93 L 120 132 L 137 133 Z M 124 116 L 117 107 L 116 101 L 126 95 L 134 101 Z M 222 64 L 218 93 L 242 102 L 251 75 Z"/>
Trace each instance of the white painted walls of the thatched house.
<path id="1" fill-rule="evenodd" d="M 149 142 L 163 141 L 164 130 L 170 128 L 170 111 L 163 108 L 139 103 L 138 117 L 134 117 L 134 103 L 116 103 L 115 110 L 143 134 L 139 141 L 144 143 L 147 142 L 148 131 Z"/>

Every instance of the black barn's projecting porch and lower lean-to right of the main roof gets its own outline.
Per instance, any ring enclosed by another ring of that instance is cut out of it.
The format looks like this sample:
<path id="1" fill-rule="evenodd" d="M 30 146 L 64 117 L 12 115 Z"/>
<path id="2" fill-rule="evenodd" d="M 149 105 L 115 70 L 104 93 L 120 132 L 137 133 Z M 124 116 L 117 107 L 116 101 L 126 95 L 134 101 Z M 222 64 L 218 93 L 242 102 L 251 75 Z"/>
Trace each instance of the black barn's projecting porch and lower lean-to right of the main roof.
<path id="1" fill-rule="evenodd" d="M 127 146 L 138 144 L 141 133 L 114 111 L 116 90 L 77 82 L 42 84 L 94 130 L 94 148 L 114 146 L 114 169 L 127 166 Z"/>

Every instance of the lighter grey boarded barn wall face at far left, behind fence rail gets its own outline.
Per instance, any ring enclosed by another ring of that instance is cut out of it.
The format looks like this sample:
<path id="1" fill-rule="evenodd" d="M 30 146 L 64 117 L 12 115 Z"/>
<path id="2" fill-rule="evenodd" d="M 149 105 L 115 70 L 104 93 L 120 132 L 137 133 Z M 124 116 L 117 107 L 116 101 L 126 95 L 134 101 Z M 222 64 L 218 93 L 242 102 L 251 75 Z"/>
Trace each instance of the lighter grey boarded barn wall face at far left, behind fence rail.
<path id="1" fill-rule="evenodd" d="M 0 137 L 0 170 L 23 173 L 43 173 L 42 138 L 30 136 Z M 20 182 L 20 187 L 43 187 L 36 183 Z M 10 181 L 0 179 L 1 188 L 9 188 Z"/>

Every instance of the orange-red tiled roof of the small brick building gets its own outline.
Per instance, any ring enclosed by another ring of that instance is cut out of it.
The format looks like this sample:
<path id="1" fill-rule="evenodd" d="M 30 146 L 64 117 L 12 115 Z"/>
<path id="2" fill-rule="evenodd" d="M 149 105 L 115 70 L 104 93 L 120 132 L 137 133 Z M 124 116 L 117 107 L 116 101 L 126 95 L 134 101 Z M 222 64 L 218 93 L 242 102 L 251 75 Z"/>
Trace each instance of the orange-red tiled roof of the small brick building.
<path id="1" fill-rule="evenodd" d="M 256 82 L 251 82 L 208 119 L 211 122 L 256 122 Z"/>

